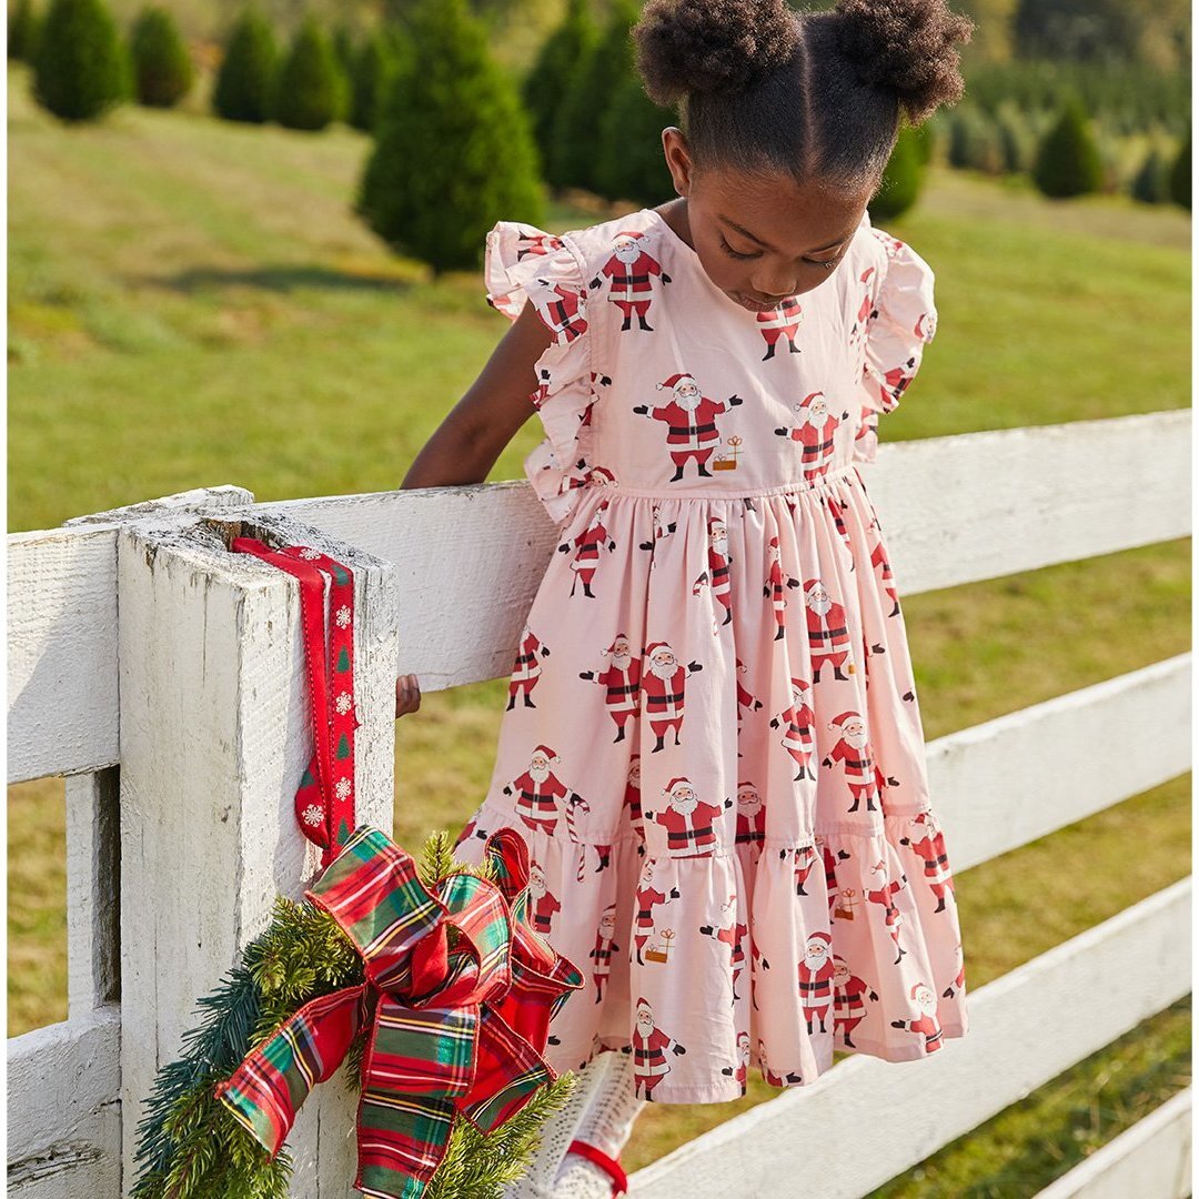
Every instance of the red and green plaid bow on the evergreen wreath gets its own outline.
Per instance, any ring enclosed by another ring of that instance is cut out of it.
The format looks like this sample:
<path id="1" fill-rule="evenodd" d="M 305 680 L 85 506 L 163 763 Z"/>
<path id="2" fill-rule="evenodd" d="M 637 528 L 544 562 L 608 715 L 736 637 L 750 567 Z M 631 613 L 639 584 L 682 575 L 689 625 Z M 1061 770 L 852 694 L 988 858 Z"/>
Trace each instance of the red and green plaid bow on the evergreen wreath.
<path id="1" fill-rule="evenodd" d="M 458 1114 L 492 1132 L 558 1077 L 542 1058 L 549 1022 L 583 975 L 529 922 L 520 835 L 493 833 L 487 857 L 496 882 L 451 874 L 430 894 L 412 858 L 363 825 L 305 892 L 357 947 L 366 982 L 306 1004 L 217 1084 L 272 1159 L 364 1022 L 354 1180 L 363 1195 L 417 1199 Z"/>

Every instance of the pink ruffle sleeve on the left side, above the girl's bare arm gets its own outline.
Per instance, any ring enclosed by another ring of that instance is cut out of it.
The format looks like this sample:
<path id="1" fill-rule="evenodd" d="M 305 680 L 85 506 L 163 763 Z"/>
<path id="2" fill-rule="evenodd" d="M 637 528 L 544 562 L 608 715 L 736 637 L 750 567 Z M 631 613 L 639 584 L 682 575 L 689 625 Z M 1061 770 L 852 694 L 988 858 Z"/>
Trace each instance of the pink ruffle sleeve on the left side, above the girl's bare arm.
<path id="1" fill-rule="evenodd" d="M 516 320 L 529 301 L 554 335 L 535 363 L 529 393 L 546 433 L 524 460 L 525 475 L 550 518 L 561 524 L 591 480 L 591 405 L 598 398 L 588 331 L 586 261 L 570 234 L 499 221 L 483 257 L 487 302 Z"/>

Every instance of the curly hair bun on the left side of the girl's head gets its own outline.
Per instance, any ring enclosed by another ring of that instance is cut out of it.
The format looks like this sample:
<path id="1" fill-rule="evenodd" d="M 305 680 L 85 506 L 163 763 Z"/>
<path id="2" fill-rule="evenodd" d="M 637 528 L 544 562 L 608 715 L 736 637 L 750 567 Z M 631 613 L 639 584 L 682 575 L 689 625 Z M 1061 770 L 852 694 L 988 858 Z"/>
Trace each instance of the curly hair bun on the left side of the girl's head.
<path id="1" fill-rule="evenodd" d="M 656 104 L 741 91 L 783 66 L 800 31 L 785 0 L 647 0 L 633 26 L 637 68 Z"/>

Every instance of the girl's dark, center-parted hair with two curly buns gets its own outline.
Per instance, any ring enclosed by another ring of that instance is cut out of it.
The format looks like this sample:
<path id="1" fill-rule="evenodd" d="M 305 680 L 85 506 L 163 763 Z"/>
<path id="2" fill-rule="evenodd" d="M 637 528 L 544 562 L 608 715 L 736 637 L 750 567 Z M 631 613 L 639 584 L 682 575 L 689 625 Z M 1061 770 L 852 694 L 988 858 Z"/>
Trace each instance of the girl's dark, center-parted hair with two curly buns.
<path id="1" fill-rule="evenodd" d="M 945 0 L 647 0 L 632 29 L 657 104 L 677 104 L 698 170 L 788 174 L 860 191 L 882 176 L 903 110 L 920 125 L 962 98 L 956 42 L 974 31 Z"/>

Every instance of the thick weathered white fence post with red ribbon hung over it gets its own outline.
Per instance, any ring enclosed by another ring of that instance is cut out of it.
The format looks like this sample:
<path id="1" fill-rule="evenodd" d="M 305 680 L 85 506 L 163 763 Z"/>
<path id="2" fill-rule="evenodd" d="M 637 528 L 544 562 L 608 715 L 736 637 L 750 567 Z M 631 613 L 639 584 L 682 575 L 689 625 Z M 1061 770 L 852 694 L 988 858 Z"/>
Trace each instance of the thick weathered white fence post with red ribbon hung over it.
<path id="1" fill-rule="evenodd" d="M 312 752 L 294 578 L 227 549 L 306 544 L 355 572 L 357 819 L 392 831 L 398 590 L 391 562 L 285 517 L 212 508 L 120 531 L 121 1104 L 125 1192 L 159 1067 L 180 1055 L 277 893 L 319 851 L 293 802 Z M 319 1086 L 288 1138 L 291 1195 L 355 1194 L 355 1095 Z"/>

